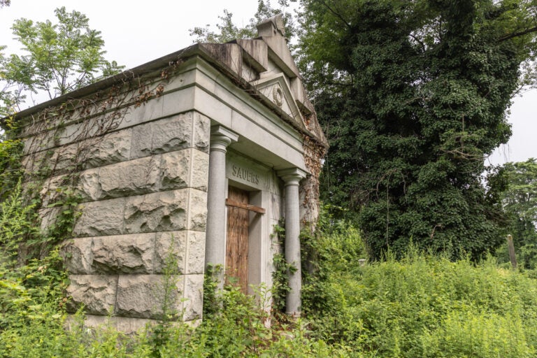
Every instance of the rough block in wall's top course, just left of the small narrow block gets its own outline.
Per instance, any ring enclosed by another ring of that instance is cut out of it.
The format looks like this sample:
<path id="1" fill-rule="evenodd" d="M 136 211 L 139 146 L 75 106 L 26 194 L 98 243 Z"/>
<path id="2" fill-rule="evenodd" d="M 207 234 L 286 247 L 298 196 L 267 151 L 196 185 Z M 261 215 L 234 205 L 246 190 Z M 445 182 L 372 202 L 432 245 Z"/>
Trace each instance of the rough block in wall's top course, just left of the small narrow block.
<path id="1" fill-rule="evenodd" d="M 129 160 L 132 129 L 122 129 L 92 139 L 87 147 L 87 166 L 97 167 Z"/>

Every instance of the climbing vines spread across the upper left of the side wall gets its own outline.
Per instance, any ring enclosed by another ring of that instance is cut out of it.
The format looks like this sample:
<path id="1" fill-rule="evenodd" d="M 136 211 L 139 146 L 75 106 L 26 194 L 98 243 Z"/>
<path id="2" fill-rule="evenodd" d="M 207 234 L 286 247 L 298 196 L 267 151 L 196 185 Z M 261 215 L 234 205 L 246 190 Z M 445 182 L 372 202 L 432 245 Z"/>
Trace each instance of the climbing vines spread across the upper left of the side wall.
<path id="1" fill-rule="evenodd" d="M 129 111 L 162 96 L 181 62 L 142 76 L 127 71 L 112 78 L 115 83 L 106 90 L 3 120 L 7 132 L 0 143 L 0 194 L 5 199 L 22 182 L 22 205 L 31 208 L 27 216 L 33 227 L 44 229 L 22 240 L 20 257 L 43 257 L 72 236 L 83 200 L 80 171 L 87 168 L 92 150 L 123 124 Z"/>

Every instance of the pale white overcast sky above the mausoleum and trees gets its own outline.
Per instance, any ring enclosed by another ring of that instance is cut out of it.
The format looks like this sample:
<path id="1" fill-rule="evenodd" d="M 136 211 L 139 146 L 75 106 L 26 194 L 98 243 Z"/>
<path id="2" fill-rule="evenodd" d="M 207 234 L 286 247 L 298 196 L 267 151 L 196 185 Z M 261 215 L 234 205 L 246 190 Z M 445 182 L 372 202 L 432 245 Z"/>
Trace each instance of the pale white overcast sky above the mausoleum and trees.
<path id="1" fill-rule="evenodd" d="M 10 6 L 0 8 L 0 45 L 8 45 L 6 53 L 19 48 L 12 40 L 13 20 L 53 21 L 54 9 L 60 6 L 87 15 L 90 27 L 102 33 L 106 58 L 132 68 L 191 45 L 189 29 L 216 24 L 224 8 L 234 14 L 237 25 L 248 24 L 257 10 L 257 0 L 11 0 Z M 489 158 L 492 164 L 537 157 L 535 108 L 537 91 L 515 98 L 509 117 L 513 136 Z"/>

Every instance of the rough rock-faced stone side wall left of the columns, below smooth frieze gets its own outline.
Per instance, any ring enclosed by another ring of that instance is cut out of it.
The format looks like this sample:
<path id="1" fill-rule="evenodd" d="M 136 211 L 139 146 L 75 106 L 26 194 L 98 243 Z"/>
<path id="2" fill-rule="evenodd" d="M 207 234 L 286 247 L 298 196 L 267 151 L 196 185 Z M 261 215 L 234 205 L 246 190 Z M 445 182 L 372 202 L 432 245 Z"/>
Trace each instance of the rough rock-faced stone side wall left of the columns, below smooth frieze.
<path id="1" fill-rule="evenodd" d="M 203 300 L 210 120 L 192 110 L 133 122 L 140 124 L 83 144 L 27 145 L 24 159 L 29 171 L 50 162 L 61 173 L 43 185 L 46 204 L 66 175 L 62 168 L 73 164 L 77 150 L 86 152 L 76 172 L 80 217 L 73 238 L 62 245 L 69 308 L 84 305 L 89 324 L 113 315 L 123 331 L 162 316 L 162 273 L 170 253 L 178 265 L 173 309 L 182 320 L 197 320 Z M 43 229 L 57 210 L 42 210 Z"/>

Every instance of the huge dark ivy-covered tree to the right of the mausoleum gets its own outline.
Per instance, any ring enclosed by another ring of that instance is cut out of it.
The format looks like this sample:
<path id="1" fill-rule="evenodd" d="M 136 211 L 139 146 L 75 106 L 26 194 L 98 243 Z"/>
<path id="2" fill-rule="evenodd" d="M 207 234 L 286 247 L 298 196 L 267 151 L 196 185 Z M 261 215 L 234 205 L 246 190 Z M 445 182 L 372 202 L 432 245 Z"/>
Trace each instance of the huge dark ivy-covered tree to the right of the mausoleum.
<path id="1" fill-rule="evenodd" d="M 331 147 L 322 194 L 357 213 L 373 258 L 474 259 L 503 242 L 504 182 L 484 159 L 534 59 L 526 0 L 305 0 L 302 73 Z M 530 73 L 531 75 L 531 73 Z"/>

